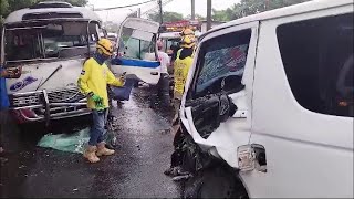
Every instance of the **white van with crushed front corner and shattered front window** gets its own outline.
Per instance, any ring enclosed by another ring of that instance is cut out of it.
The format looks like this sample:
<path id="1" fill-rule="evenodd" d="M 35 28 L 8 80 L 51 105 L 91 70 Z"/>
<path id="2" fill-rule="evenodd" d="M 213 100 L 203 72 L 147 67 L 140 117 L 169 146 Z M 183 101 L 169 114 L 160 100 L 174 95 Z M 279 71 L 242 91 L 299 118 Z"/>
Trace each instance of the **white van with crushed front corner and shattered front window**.
<path id="1" fill-rule="evenodd" d="M 353 6 L 310 1 L 200 38 L 174 140 L 185 197 L 354 197 Z"/>

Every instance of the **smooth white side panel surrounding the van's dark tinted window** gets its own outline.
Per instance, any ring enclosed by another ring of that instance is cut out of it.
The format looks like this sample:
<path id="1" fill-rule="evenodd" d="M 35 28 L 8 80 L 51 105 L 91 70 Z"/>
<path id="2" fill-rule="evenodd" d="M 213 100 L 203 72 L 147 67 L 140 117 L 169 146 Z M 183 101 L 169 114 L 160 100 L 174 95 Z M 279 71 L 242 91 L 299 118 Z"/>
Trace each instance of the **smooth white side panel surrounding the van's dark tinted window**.
<path id="1" fill-rule="evenodd" d="M 266 147 L 268 171 L 241 174 L 250 197 L 353 197 L 353 117 L 296 102 L 275 33 L 283 23 L 351 12 L 346 6 L 260 23 L 250 143 Z"/>

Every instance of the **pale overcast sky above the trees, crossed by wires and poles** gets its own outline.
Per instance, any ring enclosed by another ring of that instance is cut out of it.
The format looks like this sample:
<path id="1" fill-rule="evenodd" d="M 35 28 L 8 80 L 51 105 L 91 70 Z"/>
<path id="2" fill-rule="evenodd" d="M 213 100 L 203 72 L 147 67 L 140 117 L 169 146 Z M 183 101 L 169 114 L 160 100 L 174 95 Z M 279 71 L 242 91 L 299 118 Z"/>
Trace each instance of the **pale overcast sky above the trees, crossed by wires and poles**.
<path id="1" fill-rule="evenodd" d="M 110 8 L 110 7 L 121 7 L 126 4 L 134 4 L 144 2 L 146 0 L 88 0 L 88 7 L 98 8 Z M 164 0 L 163 0 L 164 1 Z M 195 0 L 196 1 L 196 13 L 200 15 L 207 15 L 207 0 Z M 227 9 L 233 3 L 239 2 L 239 0 L 212 0 L 212 8 L 217 10 Z M 147 4 L 139 6 L 142 12 L 156 7 L 157 3 L 152 2 Z M 123 21 L 124 18 L 132 11 L 136 11 L 138 7 L 131 7 L 129 9 L 116 9 L 110 11 L 97 12 L 103 21 Z M 156 9 L 157 11 L 157 9 Z M 164 7 L 164 11 L 174 11 L 183 13 L 185 17 L 190 14 L 190 0 L 174 0 Z"/>

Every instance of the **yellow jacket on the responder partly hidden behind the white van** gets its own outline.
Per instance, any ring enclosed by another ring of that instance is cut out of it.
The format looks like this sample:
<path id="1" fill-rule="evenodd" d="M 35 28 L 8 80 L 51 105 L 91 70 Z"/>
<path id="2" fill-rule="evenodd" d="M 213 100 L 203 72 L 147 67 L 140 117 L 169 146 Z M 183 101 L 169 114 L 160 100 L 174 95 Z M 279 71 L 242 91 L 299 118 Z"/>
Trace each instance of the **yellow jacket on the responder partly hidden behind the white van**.
<path id="1" fill-rule="evenodd" d="M 177 59 L 175 60 L 174 65 L 174 78 L 175 78 L 175 97 L 181 98 L 185 84 L 188 76 L 188 71 L 192 64 L 192 56 L 187 56 L 184 60 L 180 60 L 181 49 L 177 52 Z"/>

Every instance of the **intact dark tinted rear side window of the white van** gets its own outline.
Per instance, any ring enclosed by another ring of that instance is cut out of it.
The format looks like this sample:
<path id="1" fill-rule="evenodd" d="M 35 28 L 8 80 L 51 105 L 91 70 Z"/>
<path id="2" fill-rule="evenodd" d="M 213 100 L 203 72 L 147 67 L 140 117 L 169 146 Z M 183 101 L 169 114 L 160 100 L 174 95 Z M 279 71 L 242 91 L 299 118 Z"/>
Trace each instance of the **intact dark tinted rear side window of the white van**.
<path id="1" fill-rule="evenodd" d="M 353 117 L 353 13 L 282 24 L 277 34 L 299 104 L 321 114 Z"/>

